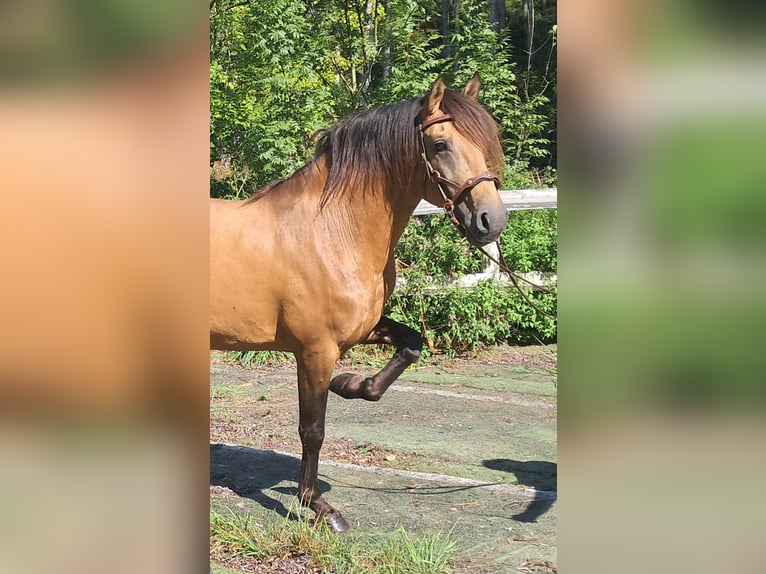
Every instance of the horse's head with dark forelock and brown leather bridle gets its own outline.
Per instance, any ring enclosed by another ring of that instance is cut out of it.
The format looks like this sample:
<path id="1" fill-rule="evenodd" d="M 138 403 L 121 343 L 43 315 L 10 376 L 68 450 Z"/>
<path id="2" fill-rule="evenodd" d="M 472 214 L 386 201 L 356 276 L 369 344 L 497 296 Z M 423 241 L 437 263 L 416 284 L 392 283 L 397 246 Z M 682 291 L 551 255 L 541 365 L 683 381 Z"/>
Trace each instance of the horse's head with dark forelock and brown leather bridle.
<path id="1" fill-rule="evenodd" d="M 476 101 L 479 86 L 478 74 L 460 93 L 436 80 L 423 98 L 418 129 L 429 178 L 426 200 L 453 211 L 466 238 L 482 246 L 498 238 L 508 213 L 489 167 L 502 164 L 500 140 L 494 121 Z"/>

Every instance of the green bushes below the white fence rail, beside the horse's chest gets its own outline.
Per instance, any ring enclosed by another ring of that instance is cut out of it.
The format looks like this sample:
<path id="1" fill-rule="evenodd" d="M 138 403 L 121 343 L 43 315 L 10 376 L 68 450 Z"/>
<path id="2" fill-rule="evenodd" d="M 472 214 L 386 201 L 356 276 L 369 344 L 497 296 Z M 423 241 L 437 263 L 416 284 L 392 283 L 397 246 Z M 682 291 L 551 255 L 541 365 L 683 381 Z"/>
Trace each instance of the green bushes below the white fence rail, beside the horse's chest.
<path id="1" fill-rule="evenodd" d="M 555 210 L 511 214 L 500 237 L 511 269 L 556 271 L 556 221 Z M 414 218 L 395 255 L 401 280 L 385 313 L 423 332 L 429 351 L 459 353 L 482 345 L 555 340 L 555 321 L 530 306 L 510 284 L 483 282 L 473 288 L 444 285 L 460 275 L 481 271 L 487 263 L 445 217 Z M 555 316 L 554 295 L 525 293 Z"/>

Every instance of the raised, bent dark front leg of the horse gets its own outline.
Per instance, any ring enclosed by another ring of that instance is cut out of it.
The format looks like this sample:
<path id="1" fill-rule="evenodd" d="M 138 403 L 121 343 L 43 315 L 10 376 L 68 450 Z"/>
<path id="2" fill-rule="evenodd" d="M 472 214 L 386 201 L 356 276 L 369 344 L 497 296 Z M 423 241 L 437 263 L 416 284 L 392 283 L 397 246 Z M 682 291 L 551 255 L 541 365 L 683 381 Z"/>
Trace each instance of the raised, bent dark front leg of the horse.
<path id="1" fill-rule="evenodd" d="M 377 374 L 363 377 L 342 373 L 330 382 L 330 390 L 345 399 L 377 401 L 404 370 L 420 357 L 423 338 L 420 333 L 388 317 L 381 317 L 364 344 L 387 343 L 396 346 L 396 354 Z"/>

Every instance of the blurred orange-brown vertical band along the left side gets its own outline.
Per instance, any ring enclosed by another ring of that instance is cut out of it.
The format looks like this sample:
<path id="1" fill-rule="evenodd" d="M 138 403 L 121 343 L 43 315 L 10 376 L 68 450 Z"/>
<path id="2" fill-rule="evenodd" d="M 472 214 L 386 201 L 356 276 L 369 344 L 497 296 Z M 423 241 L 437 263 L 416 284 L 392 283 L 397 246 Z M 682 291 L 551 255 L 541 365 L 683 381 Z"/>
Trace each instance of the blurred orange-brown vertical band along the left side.
<path id="1" fill-rule="evenodd" d="M 0 5 L 0 571 L 207 570 L 207 4 Z"/>

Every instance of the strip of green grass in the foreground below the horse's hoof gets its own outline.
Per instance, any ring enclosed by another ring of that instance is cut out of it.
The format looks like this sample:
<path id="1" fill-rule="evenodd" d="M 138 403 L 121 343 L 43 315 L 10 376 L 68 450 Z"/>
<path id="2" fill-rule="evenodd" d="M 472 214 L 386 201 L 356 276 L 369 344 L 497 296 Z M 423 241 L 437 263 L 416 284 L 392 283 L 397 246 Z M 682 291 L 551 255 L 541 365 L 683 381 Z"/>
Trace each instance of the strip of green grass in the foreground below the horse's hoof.
<path id="1" fill-rule="evenodd" d="M 307 518 L 258 523 L 230 508 L 210 511 L 211 555 L 261 560 L 306 557 L 327 574 L 438 574 L 449 572 L 455 550 L 452 531 L 413 537 L 400 527 L 386 538 L 369 534 L 334 534 Z"/>

